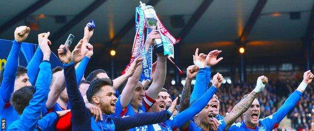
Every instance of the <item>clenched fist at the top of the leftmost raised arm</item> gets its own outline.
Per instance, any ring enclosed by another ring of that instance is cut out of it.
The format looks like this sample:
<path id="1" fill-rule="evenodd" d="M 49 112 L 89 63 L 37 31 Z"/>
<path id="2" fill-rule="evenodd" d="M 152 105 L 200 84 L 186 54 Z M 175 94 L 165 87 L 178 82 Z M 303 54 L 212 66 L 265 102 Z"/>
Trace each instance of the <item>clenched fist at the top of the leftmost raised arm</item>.
<path id="1" fill-rule="evenodd" d="M 19 26 L 14 31 L 14 38 L 17 42 L 23 42 L 27 36 L 29 35 L 29 32 L 31 31 L 31 28 L 27 26 Z"/>

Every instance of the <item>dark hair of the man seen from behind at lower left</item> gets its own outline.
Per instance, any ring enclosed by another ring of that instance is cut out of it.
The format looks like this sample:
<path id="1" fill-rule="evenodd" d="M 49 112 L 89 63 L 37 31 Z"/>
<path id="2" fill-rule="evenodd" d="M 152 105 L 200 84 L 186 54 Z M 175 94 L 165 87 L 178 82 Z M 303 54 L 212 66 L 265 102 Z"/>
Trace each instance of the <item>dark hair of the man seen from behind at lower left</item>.
<path id="1" fill-rule="evenodd" d="M 16 90 L 11 96 L 11 104 L 14 109 L 21 115 L 29 101 L 33 98 L 35 86 L 25 86 Z"/>

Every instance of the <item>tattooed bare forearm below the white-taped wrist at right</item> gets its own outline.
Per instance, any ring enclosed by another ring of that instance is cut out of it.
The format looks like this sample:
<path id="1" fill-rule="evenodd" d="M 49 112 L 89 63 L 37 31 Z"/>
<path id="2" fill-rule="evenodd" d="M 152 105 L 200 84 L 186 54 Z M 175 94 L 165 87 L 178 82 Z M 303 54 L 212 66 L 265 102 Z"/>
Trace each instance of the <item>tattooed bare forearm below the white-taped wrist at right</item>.
<path id="1" fill-rule="evenodd" d="M 232 108 L 230 113 L 224 117 L 224 122 L 226 124 L 226 129 L 234 123 L 238 117 L 240 117 L 244 112 L 246 112 L 252 105 L 254 99 L 257 97 L 258 93 L 252 91 L 247 97 L 242 99 L 236 106 Z"/>

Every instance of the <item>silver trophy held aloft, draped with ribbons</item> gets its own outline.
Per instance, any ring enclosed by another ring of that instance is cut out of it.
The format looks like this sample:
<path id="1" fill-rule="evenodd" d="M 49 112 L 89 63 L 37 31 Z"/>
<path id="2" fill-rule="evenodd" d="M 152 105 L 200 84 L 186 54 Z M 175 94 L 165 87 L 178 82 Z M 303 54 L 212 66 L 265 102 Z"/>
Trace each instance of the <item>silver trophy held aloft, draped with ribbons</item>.
<path id="1" fill-rule="evenodd" d="M 147 26 L 148 26 L 147 28 L 156 29 L 157 15 L 153 7 L 149 5 L 146 6 L 146 4 L 142 3 L 141 1 L 139 1 L 139 4 L 140 4 L 139 8 L 141 8 L 144 11 L 144 15 L 145 15 Z M 154 39 L 153 46 L 154 46 L 154 51 L 156 53 L 160 53 L 164 51 L 162 39 Z"/>

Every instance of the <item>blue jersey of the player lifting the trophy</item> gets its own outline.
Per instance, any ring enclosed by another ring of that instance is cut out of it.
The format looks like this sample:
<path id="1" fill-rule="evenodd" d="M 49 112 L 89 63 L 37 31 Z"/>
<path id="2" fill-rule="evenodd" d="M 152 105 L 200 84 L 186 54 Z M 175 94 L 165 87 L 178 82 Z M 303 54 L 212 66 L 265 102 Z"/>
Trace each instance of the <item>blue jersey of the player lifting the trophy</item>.
<path id="1" fill-rule="evenodd" d="M 120 98 L 121 98 L 121 96 L 119 96 L 118 101 L 116 103 L 116 112 L 114 114 L 112 114 L 111 116 L 120 118 L 120 117 L 135 115 L 136 112 L 133 110 L 131 103 L 129 103 L 127 107 L 122 109 Z M 138 108 L 137 113 L 147 112 L 153 103 L 155 103 L 155 100 L 151 99 L 150 97 L 148 97 L 145 94 L 145 96 L 143 97 L 143 100 L 142 100 L 142 106 Z M 147 125 L 143 125 L 143 126 L 131 128 L 129 130 L 147 130 L 147 128 L 148 128 Z"/>

